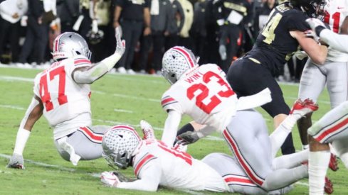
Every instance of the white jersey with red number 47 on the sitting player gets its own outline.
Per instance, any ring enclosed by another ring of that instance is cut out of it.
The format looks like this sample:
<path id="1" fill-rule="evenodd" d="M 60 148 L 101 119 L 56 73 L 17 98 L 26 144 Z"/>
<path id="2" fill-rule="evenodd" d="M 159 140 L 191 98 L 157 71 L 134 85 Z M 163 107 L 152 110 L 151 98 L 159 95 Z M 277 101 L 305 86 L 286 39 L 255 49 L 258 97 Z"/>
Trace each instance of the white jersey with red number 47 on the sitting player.
<path id="1" fill-rule="evenodd" d="M 55 139 L 73 133 L 75 127 L 90 125 L 90 122 L 85 123 L 90 121 L 90 117 L 77 117 L 81 113 L 90 116 L 90 85 L 77 84 L 72 77 L 76 68 L 90 65 L 90 60 L 78 55 L 54 62 L 36 75 L 33 92 L 43 103 L 43 116 L 51 126 L 56 127 Z"/>

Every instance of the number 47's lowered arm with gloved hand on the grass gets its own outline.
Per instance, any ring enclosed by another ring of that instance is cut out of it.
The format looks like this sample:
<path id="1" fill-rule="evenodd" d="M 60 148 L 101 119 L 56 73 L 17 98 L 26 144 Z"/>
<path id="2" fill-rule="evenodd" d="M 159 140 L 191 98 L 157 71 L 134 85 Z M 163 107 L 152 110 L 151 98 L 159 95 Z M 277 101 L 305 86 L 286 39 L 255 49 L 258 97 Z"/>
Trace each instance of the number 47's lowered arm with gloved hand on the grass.
<path id="1" fill-rule="evenodd" d="M 26 110 L 26 114 L 21 121 L 21 125 L 19 126 L 16 137 L 16 145 L 14 147 L 14 154 L 10 158 L 7 167 L 24 169 L 23 150 L 31 133 L 31 129 L 36 121 L 38 121 L 38 119 L 41 117 L 42 113 L 43 104 L 41 99 L 39 99 L 37 96 L 33 96 L 31 99 L 31 104 Z"/>

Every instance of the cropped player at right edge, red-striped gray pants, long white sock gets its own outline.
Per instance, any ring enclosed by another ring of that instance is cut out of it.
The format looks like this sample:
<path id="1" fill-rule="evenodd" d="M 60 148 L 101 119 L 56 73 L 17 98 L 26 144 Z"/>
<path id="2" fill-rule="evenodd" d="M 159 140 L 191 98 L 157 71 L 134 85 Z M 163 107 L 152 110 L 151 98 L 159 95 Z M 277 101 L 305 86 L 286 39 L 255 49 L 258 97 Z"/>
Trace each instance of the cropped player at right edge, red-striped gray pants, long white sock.
<path id="1" fill-rule="evenodd" d="M 343 7 L 348 9 L 347 7 Z M 322 21 L 307 19 L 315 34 L 330 47 L 348 53 L 348 35 L 339 35 L 325 27 Z M 344 69 L 341 71 L 345 71 Z M 339 104 L 326 113 L 319 121 L 308 129 L 310 143 L 309 182 L 310 194 L 324 194 L 322 186 L 325 182 L 327 165 L 329 164 L 329 143 L 334 145 L 337 155 L 348 168 L 348 101 Z M 336 143 L 336 144 L 334 144 Z"/>

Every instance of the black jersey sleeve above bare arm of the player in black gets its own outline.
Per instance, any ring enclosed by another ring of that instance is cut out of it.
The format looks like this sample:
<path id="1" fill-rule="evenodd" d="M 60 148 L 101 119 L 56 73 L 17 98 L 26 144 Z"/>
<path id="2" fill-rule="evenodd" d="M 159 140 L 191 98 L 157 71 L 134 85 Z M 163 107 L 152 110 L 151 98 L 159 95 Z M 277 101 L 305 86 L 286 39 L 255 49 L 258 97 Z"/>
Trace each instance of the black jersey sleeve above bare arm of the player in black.
<path id="1" fill-rule="evenodd" d="M 287 16 L 287 26 L 288 30 L 300 30 L 305 31 L 309 30 L 310 26 L 306 23 L 306 19 L 308 18 L 305 13 L 302 11 L 293 10 L 290 11 L 290 14 Z"/>

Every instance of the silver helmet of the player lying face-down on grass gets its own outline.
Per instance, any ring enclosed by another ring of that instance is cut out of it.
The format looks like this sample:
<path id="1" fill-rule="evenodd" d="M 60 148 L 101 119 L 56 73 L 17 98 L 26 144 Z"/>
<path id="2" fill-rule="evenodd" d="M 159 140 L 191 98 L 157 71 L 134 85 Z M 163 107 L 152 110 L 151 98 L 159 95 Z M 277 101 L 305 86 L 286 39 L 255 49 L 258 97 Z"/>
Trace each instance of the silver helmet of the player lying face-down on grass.
<path id="1" fill-rule="evenodd" d="M 102 157 L 111 167 L 126 169 L 141 140 L 134 128 L 113 126 L 102 137 Z"/>

